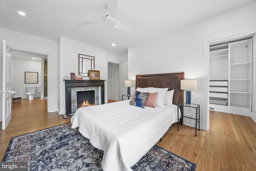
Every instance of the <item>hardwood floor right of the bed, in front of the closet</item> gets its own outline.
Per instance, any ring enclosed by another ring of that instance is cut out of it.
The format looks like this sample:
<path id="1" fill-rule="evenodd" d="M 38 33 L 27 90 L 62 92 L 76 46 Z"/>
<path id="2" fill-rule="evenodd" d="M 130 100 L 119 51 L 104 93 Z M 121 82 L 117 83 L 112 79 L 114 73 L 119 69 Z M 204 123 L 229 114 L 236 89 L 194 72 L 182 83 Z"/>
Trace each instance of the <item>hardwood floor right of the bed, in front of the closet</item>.
<path id="1" fill-rule="evenodd" d="M 157 145 L 196 163 L 197 171 L 255 171 L 256 123 L 251 117 L 210 111 L 208 131 L 177 125 Z"/>

